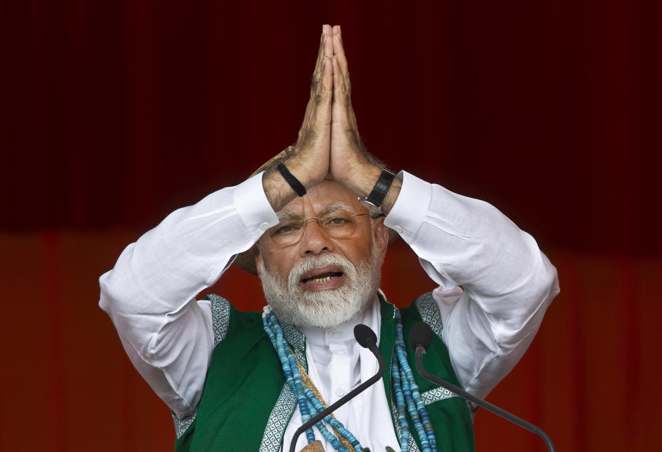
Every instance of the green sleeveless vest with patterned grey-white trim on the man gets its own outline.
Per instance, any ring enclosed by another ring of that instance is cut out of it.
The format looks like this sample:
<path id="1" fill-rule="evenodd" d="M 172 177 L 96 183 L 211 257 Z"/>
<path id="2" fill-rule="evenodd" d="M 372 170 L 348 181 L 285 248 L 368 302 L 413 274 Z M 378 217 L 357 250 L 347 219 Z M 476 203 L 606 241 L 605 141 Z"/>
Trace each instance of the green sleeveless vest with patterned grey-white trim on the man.
<path id="1" fill-rule="evenodd" d="M 297 408 L 274 348 L 262 328 L 259 312 L 242 312 L 227 300 L 211 295 L 214 351 L 200 403 L 188 418 L 174 415 L 176 452 L 260 451 L 277 452 Z M 395 307 L 381 301 L 381 336 L 379 349 L 386 362 L 383 374 L 386 398 L 391 407 L 392 427 L 398 440 L 401 429 L 394 413 L 390 357 L 394 353 Z M 423 294 L 408 308 L 400 309 L 405 342 L 417 322 L 425 321 L 436 333 L 432 346 L 423 356 L 425 369 L 459 385 L 452 370 L 448 350 L 440 339 L 441 316 L 431 294 Z M 282 323 L 283 335 L 308 370 L 305 337 L 293 325 Z M 464 399 L 424 380 L 416 371 L 414 351 L 407 344 L 409 364 L 419 385 L 430 420 L 434 426 L 439 451 L 474 451 L 472 411 Z M 416 430 L 410 422 L 410 451 L 420 451 Z M 359 441 L 361 438 L 359 438 Z M 381 452 L 381 451 L 372 451 Z"/>

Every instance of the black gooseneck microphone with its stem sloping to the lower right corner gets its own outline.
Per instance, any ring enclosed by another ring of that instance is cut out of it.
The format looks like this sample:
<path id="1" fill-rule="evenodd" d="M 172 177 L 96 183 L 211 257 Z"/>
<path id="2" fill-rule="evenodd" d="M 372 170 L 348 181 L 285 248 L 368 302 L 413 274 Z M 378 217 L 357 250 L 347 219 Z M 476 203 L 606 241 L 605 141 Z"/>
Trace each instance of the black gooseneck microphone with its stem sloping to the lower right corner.
<path id="1" fill-rule="evenodd" d="M 432 335 L 432 328 L 430 328 L 430 325 L 425 322 L 418 322 L 412 327 L 412 330 L 409 333 L 410 345 L 412 346 L 412 349 L 416 350 L 416 369 L 419 371 L 421 376 L 425 378 L 425 380 L 428 380 L 434 384 L 438 384 L 442 388 L 448 389 L 448 391 L 452 391 L 458 396 L 477 404 L 479 407 L 483 407 L 484 409 L 501 416 L 501 418 L 509 420 L 510 422 L 519 425 L 519 427 L 539 435 L 541 438 L 543 438 L 543 441 L 547 445 L 547 448 L 550 450 L 550 452 L 555 451 L 552 440 L 550 440 L 550 437 L 547 435 L 547 433 L 545 433 L 540 427 L 536 427 L 534 424 L 530 424 L 529 422 L 526 422 L 525 420 L 510 414 L 508 411 L 496 407 L 496 405 L 493 405 L 490 402 L 485 402 L 483 399 L 472 396 L 470 393 L 455 386 L 454 384 L 445 380 L 441 380 L 441 378 L 432 375 L 432 373 L 428 373 L 428 371 L 425 371 L 425 369 L 423 369 L 423 354 L 428 351 L 430 345 L 432 344 Z"/>

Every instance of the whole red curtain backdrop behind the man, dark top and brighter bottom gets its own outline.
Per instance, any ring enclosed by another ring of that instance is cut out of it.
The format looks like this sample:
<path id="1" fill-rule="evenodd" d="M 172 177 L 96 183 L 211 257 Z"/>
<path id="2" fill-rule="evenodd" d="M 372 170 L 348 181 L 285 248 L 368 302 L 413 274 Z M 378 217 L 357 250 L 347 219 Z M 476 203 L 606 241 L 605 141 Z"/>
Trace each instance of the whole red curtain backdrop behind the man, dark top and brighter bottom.
<path id="1" fill-rule="evenodd" d="M 272 3 L 0 3 L 0 449 L 172 449 L 97 278 L 295 140 L 322 23 L 343 27 L 368 149 L 496 205 L 559 270 L 488 400 L 560 451 L 661 446 L 662 3 Z M 401 241 L 383 287 L 398 305 L 432 287 Z M 236 268 L 212 290 L 263 304 Z M 479 450 L 545 450 L 475 426 Z"/>

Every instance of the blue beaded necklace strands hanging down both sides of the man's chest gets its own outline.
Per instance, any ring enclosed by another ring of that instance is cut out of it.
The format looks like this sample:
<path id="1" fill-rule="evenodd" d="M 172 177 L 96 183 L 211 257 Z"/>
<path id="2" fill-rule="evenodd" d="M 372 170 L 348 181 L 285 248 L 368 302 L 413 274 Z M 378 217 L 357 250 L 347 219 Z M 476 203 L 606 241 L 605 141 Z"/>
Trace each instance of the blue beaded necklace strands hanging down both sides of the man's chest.
<path id="1" fill-rule="evenodd" d="M 403 451 L 408 450 L 410 430 L 406 413 L 409 413 L 412 424 L 414 424 L 414 429 L 416 429 L 419 441 L 423 447 L 423 452 L 437 452 L 437 442 L 434 439 L 434 429 L 430 422 L 430 416 L 425 409 L 419 387 L 414 381 L 412 369 L 407 362 L 407 349 L 402 333 L 402 318 L 398 309 L 395 310 L 395 321 L 395 353 L 391 360 L 391 376 L 397 401 L 398 424 L 402 430 L 400 448 Z M 297 358 L 283 338 L 283 330 L 281 329 L 280 322 L 269 306 L 264 308 L 262 324 L 281 361 L 285 380 L 287 380 L 292 393 L 297 398 L 299 412 L 301 413 L 301 422 L 308 422 L 310 418 L 325 407 L 313 391 L 303 382 Z M 348 429 L 345 429 L 342 422 L 333 418 L 332 415 L 326 416 L 324 421 L 333 427 L 338 436 L 328 431 L 321 421 L 317 422 L 315 427 L 317 427 L 325 440 L 335 450 L 339 452 L 351 452 L 351 449 L 353 449 L 354 452 L 363 452 L 359 440 Z M 305 431 L 305 436 L 308 444 L 314 442 L 315 433 L 312 428 Z M 348 449 L 345 445 L 349 445 L 350 448 Z"/>

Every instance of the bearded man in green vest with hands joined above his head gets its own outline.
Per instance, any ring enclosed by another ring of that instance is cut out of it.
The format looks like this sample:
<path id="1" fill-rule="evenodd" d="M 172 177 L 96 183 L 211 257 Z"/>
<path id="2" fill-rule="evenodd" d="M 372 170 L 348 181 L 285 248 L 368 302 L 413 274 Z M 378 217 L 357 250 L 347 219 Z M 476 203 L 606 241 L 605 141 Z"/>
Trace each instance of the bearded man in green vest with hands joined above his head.
<path id="1" fill-rule="evenodd" d="M 559 292 L 533 238 L 494 207 L 406 172 L 392 178 L 374 163 L 350 92 L 341 29 L 323 25 L 293 149 L 266 172 L 170 214 L 100 278 L 100 305 L 172 410 L 179 450 L 288 450 L 316 404 L 376 373 L 352 335 L 358 323 L 377 333 L 390 369 L 334 413 L 342 427 L 330 420 L 301 435 L 296 450 L 312 440 L 326 451 L 359 443 L 473 450 L 472 407 L 408 375 L 414 353 L 403 337 L 428 322 L 437 336 L 426 367 L 484 397 Z M 379 291 L 393 231 L 439 284 L 408 309 Z M 194 300 L 235 256 L 261 278 L 263 316 L 218 296 Z"/>

